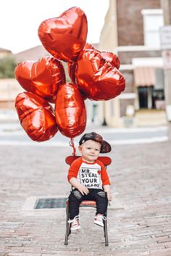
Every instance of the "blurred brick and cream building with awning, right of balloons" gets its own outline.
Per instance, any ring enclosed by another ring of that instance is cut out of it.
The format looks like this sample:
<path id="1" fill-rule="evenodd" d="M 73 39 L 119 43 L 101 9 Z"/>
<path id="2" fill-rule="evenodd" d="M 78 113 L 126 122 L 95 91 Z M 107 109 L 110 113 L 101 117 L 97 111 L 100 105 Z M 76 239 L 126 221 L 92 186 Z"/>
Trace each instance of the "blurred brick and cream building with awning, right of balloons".
<path id="1" fill-rule="evenodd" d="M 166 123 L 159 36 L 163 25 L 160 0 L 109 0 L 99 49 L 120 58 L 126 88 L 116 99 L 101 103 L 108 125 L 124 125 L 131 107 L 135 125 L 150 124 L 154 117 L 158 124 Z"/>

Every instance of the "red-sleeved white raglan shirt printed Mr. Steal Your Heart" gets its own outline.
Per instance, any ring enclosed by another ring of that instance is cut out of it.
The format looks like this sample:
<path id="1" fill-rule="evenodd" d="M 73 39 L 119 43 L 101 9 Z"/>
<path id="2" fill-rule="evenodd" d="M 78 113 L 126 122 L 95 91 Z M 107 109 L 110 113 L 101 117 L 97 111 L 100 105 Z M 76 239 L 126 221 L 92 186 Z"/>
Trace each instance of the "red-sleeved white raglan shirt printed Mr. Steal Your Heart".
<path id="1" fill-rule="evenodd" d="M 102 189 L 104 185 L 110 185 L 107 170 L 99 160 L 90 163 L 79 157 L 70 165 L 67 176 L 69 182 L 71 178 L 77 178 L 83 186 L 89 189 Z"/>

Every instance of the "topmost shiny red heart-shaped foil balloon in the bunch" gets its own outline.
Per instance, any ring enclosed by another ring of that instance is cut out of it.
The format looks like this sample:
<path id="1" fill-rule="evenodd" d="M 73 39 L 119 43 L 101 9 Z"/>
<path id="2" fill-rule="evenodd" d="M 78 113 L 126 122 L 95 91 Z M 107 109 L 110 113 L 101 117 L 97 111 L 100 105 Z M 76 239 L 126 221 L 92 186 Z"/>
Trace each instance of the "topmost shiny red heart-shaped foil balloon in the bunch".
<path id="1" fill-rule="evenodd" d="M 86 44 L 88 25 L 85 13 L 72 7 L 62 15 L 44 20 L 38 36 L 44 48 L 57 59 L 76 60 Z"/>

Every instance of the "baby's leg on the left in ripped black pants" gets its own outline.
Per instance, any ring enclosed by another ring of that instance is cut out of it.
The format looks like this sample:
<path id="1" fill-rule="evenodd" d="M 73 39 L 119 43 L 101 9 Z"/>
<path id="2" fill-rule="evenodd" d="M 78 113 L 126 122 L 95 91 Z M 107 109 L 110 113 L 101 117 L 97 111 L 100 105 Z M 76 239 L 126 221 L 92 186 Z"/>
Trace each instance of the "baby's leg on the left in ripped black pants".
<path id="1" fill-rule="evenodd" d="M 79 207 L 80 203 L 83 201 L 83 194 L 78 191 L 78 189 L 74 189 L 71 191 L 69 196 L 69 215 L 70 220 L 75 218 L 75 216 L 79 215 Z"/>

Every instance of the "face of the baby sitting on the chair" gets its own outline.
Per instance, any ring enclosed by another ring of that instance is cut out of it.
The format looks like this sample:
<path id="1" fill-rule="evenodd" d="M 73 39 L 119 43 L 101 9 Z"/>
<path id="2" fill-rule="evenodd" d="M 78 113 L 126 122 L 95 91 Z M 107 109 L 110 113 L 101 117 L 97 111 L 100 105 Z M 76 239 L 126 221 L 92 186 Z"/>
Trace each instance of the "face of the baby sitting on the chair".
<path id="1" fill-rule="evenodd" d="M 80 154 L 86 162 L 94 162 L 98 157 L 101 150 L 101 144 L 97 141 L 88 139 L 79 146 Z"/>

